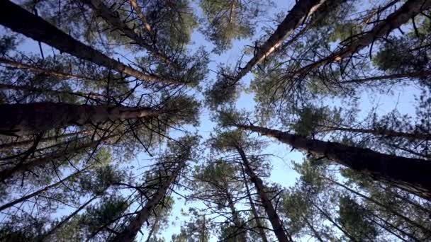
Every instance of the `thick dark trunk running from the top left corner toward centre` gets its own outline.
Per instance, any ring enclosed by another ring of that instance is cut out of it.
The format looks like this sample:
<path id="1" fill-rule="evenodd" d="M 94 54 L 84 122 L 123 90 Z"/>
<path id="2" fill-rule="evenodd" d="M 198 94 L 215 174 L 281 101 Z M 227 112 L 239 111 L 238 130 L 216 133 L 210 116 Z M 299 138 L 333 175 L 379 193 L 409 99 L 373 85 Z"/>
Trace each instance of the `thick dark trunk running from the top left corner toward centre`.
<path id="1" fill-rule="evenodd" d="M 60 52 L 67 52 L 75 57 L 134 76 L 140 80 L 174 83 L 172 80 L 163 79 L 159 76 L 144 74 L 115 59 L 111 59 L 106 56 L 106 54 L 75 40 L 70 35 L 62 32 L 62 30 L 59 30 L 54 25 L 43 20 L 43 18 L 35 16 L 9 0 L 0 1 L 0 9 L 3 12 L 3 14 L 0 15 L 1 25 L 17 33 L 26 35 L 28 38 L 55 47 L 57 50 L 60 50 Z"/>

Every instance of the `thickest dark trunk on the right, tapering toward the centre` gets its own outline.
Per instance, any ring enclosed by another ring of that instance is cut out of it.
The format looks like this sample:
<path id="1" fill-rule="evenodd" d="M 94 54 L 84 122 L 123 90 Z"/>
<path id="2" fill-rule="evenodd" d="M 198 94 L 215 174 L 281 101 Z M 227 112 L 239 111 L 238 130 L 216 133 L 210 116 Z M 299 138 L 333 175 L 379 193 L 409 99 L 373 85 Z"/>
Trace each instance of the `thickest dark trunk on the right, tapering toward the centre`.
<path id="1" fill-rule="evenodd" d="M 391 183 L 398 186 L 398 188 L 431 200 L 430 161 L 382 154 L 371 149 L 347 146 L 337 142 L 308 139 L 296 134 L 265 127 L 235 126 L 259 132 L 268 137 L 274 137 L 279 139 L 280 142 L 291 145 L 294 149 L 323 156 L 354 171 L 370 175 L 371 178 Z"/>

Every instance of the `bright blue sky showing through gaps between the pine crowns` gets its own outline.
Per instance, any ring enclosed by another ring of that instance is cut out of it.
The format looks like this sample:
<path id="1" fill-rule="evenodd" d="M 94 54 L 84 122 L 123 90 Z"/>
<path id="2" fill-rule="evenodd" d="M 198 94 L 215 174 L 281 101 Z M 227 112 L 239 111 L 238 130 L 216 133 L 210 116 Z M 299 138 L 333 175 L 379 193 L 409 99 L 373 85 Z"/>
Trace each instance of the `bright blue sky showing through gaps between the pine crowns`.
<path id="1" fill-rule="evenodd" d="M 287 11 L 295 4 L 294 0 L 276 0 L 274 1 L 276 4 L 276 7 L 271 8 L 270 11 L 267 13 L 267 16 L 273 17 L 275 16 L 275 13 L 283 12 L 287 13 Z M 272 28 L 275 28 L 275 23 L 271 21 L 264 21 L 261 24 L 270 26 Z M 206 79 L 206 83 L 212 83 L 212 81 L 215 79 L 215 72 L 217 70 L 218 64 L 230 64 L 235 65 L 237 60 L 240 59 L 242 56 L 242 50 L 245 45 L 252 45 L 252 42 L 254 40 L 257 40 L 259 36 L 261 36 L 262 25 L 258 26 L 256 34 L 253 38 L 250 40 L 236 40 L 233 43 L 233 47 L 231 50 L 228 50 L 222 55 L 216 55 L 211 54 L 210 59 L 211 63 L 209 64 L 209 69 L 213 70 L 210 71 L 208 74 L 208 78 Z M 195 49 L 198 46 L 205 46 L 206 50 L 208 52 L 211 52 L 212 45 L 208 41 L 203 38 L 201 33 L 198 33 L 195 31 L 192 36 L 192 41 L 194 42 L 194 45 L 192 49 Z M 33 52 L 38 53 L 38 45 L 33 40 L 26 40 L 26 42 L 21 45 L 20 49 L 24 52 Z M 50 53 L 51 48 L 44 46 L 45 53 Z M 127 52 L 122 52 L 121 54 L 125 55 L 125 57 L 128 57 L 130 59 L 133 59 L 133 55 Z M 245 57 L 247 59 L 248 57 Z M 125 59 L 123 57 L 120 57 L 120 59 L 123 62 Z M 242 83 L 245 84 L 245 86 L 250 83 L 250 80 L 252 79 L 252 74 L 247 74 L 242 79 Z M 203 85 L 205 86 L 205 85 Z M 197 96 L 200 96 L 200 94 L 196 93 Z M 400 113 L 410 114 L 414 115 L 414 96 L 418 94 L 418 90 L 414 87 L 409 88 L 395 88 L 393 90 L 393 94 L 388 95 L 377 95 L 375 92 L 364 92 L 362 93 L 361 100 L 360 100 L 360 109 L 362 110 L 361 115 L 366 115 L 366 113 L 374 107 L 377 107 L 377 113 L 385 114 L 393 110 L 394 108 L 397 108 Z M 252 94 L 242 93 L 239 100 L 237 101 L 237 108 L 244 108 L 246 110 L 253 110 L 254 108 L 254 100 Z M 203 108 L 201 110 L 201 123 L 199 127 L 196 127 L 198 130 L 198 134 L 200 134 L 204 139 L 208 137 L 210 132 L 213 130 L 214 123 L 209 120 L 209 112 L 206 108 Z M 277 127 L 281 128 L 282 127 Z M 194 129 L 190 129 L 191 132 L 194 131 Z M 262 139 L 267 139 L 265 137 L 262 137 Z M 290 152 L 290 149 L 288 146 L 284 144 L 279 144 L 279 142 L 274 142 L 274 140 L 267 139 L 269 141 L 269 146 L 267 149 L 265 149 L 263 152 L 265 154 L 273 154 L 274 156 L 270 157 L 270 161 L 272 163 L 272 173 L 271 177 L 268 182 L 274 182 L 279 183 L 283 187 L 289 187 L 290 185 L 293 185 L 295 183 L 296 178 L 298 175 L 295 171 L 291 169 L 291 161 L 301 161 L 303 155 L 299 153 L 298 151 L 292 151 Z M 149 157 L 146 154 L 140 154 L 138 157 L 136 157 L 136 161 L 133 161 L 133 163 L 145 163 L 147 162 L 147 159 Z M 178 197 L 177 197 L 178 198 Z M 165 241 L 170 241 L 170 238 L 172 234 L 178 233 L 180 229 L 180 225 L 182 222 L 186 221 L 187 218 L 184 218 L 181 216 L 181 209 L 184 209 L 186 206 L 184 206 L 184 200 L 177 200 L 177 202 L 174 204 L 174 209 L 172 211 L 172 217 L 171 222 L 172 224 L 169 224 L 169 229 L 166 229 L 162 232 L 162 236 L 164 236 Z M 179 219 L 176 219 L 176 218 Z M 143 230 L 145 231 L 145 230 Z M 146 234 L 142 238 L 146 238 Z"/>

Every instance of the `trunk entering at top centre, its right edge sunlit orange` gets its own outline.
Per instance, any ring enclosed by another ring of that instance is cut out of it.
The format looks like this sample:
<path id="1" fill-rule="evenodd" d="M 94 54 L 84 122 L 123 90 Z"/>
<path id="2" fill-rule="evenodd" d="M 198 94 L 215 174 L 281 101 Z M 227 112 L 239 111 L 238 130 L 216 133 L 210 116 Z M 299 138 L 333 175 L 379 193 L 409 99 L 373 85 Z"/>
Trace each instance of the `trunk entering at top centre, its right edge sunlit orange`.
<path id="1" fill-rule="evenodd" d="M 296 5 L 293 6 L 291 11 L 287 14 L 286 18 L 279 24 L 275 32 L 264 42 L 263 45 L 259 46 L 257 53 L 250 59 L 249 62 L 241 69 L 240 73 L 235 76 L 235 81 L 239 81 L 248 72 L 252 70 L 254 65 L 267 58 L 269 54 L 274 52 L 279 47 L 283 40 L 287 38 L 293 31 L 303 23 L 305 18 L 313 14 L 318 7 L 323 4 L 325 0 L 301 0 L 297 1 Z"/>

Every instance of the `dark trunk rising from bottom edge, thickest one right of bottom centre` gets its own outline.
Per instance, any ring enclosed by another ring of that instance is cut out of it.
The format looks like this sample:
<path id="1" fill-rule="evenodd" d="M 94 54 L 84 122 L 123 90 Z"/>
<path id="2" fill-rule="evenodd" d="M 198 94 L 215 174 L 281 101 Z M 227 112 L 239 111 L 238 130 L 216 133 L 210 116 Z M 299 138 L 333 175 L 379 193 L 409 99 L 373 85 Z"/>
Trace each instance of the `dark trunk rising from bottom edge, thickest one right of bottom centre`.
<path id="1" fill-rule="evenodd" d="M 264 183 L 262 180 L 254 173 L 252 167 L 250 166 L 250 163 L 247 159 L 247 156 L 245 156 L 244 150 L 237 146 L 235 147 L 237 149 L 238 153 L 241 156 L 242 163 L 245 166 L 245 172 L 247 175 L 250 176 L 250 180 L 254 184 L 257 190 L 257 195 L 259 195 L 260 200 L 262 200 L 262 204 L 264 206 L 265 211 L 267 212 L 268 219 L 272 224 L 272 229 L 274 229 L 274 234 L 281 242 L 288 242 L 292 241 L 291 235 L 284 230 L 283 224 L 281 224 L 281 220 L 279 218 L 279 215 L 276 213 L 274 206 L 272 205 L 271 200 L 269 200 L 267 194 L 264 190 Z"/>

